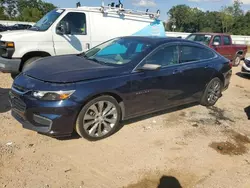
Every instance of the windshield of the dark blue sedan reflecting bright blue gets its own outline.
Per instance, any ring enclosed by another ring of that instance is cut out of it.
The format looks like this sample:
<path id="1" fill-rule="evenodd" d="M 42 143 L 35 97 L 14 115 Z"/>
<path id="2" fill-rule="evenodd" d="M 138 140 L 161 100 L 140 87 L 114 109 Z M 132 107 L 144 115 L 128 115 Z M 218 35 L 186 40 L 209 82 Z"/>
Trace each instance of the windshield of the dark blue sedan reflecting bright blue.
<path id="1" fill-rule="evenodd" d="M 123 65 L 132 61 L 150 46 L 150 43 L 141 39 L 116 38 L 90 49 L 84 57 L 99 63 Z"/>

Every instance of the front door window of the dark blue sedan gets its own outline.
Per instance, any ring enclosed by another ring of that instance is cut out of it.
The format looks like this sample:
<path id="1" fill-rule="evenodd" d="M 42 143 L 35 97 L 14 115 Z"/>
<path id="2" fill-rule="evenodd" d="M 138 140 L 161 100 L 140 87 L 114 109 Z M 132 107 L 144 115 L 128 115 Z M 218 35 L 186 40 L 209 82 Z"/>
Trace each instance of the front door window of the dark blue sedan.
<path id="1" fill-rule="evenodd" d="M 151 54 L 144 63 L 156 64 L 166 67 L 179 63 L 179 48 L 178 46 L 166 46 L 158 49 Z"/>

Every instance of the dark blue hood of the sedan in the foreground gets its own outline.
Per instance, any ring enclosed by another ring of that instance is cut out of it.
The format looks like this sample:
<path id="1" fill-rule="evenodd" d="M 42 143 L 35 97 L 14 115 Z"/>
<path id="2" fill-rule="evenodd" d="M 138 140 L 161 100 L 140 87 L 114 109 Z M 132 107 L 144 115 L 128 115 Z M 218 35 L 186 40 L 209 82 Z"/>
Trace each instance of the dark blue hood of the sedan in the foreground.
<path id="1" fill-rule="evenodd" d="M 99 64 L 78 55 L 43 58 L 33 62 L 23 71 L 32 78 L 55 83 L 92 80 L 121 75 L 125 72 L 121 67 Z"/>

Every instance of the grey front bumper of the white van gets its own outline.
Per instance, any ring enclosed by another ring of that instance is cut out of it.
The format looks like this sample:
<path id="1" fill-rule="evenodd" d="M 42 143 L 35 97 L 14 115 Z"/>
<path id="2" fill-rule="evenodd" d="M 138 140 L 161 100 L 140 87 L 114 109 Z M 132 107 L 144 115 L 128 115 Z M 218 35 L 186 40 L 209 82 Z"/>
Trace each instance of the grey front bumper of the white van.
<path id="1" fill-rule="evenodd" d="M 21 59 L 7 59 L 0 57 L 0 72 L 19 73 Z"/>

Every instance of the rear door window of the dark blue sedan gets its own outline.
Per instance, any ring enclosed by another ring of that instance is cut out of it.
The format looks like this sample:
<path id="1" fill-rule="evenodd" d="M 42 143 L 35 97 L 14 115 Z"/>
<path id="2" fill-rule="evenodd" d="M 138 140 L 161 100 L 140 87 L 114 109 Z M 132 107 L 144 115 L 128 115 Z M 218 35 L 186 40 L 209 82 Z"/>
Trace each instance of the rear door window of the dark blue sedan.
<path id="1" fill-rule="evenodd" d="M 214 52 L 206 48 L 200 48 L 195 46 L 181 47 L 181 55 L 180 55 L 181 63 L 206 60 L 213 57 L 215 57 Z"/>

